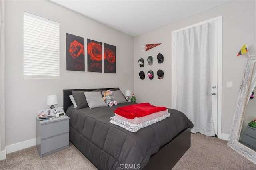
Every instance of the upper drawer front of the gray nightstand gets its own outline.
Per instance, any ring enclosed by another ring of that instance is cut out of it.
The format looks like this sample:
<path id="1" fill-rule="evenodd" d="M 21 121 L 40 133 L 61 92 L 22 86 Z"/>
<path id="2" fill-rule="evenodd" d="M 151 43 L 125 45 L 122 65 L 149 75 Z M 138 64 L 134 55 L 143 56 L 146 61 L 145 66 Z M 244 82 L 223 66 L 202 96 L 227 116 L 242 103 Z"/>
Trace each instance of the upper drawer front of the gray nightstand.
<path id="1" fill-rule="evenodd" d="M 69 132 L 69 120 L 48 122 L 41 125 L 41 139 Z"/>

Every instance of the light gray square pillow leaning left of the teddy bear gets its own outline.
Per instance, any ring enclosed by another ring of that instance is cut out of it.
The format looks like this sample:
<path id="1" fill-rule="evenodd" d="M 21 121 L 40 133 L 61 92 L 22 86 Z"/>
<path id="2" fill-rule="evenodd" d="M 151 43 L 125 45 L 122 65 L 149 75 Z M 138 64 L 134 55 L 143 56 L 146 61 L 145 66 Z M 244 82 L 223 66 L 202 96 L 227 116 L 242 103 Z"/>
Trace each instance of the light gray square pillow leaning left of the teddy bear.
<path id="1" fill-rule="evenodd" d="M 107 106 L 102 98 L 100 91 L 84 92 L 84 95 L 90 109 Z"/>

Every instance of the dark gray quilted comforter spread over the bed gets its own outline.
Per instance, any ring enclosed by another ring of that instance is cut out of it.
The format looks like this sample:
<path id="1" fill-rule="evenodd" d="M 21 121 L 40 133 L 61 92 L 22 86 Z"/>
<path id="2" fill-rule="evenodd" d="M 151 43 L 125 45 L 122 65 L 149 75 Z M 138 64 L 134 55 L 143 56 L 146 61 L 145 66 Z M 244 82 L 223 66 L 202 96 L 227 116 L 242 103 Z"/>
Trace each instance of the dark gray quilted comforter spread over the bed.
<path id="1" fill-rule="evenodd" d="M 170 117 L 136 133 L 110 123 L 116 107 L 131 104 L 79 110 L 71 106 L 66 111 L 70 117 L 70 141 L 97 168 L 118 170 L 130 164 L 142 169 L 161 146 L 182 130 L 193 127 L 184 113 L 174 109 L 168 109 Z"/>

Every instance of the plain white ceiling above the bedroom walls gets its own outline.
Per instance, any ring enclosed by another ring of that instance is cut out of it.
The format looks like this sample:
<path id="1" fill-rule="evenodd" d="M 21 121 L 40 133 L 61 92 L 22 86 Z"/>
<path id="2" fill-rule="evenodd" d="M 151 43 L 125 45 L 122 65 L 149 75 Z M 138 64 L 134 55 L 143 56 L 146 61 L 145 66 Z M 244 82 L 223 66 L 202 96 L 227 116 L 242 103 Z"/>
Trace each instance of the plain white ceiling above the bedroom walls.
<path id="1" fill-rule="evenodd" d="M 50 1 L 131 36 L 138 36 L 232 0 Z"/>

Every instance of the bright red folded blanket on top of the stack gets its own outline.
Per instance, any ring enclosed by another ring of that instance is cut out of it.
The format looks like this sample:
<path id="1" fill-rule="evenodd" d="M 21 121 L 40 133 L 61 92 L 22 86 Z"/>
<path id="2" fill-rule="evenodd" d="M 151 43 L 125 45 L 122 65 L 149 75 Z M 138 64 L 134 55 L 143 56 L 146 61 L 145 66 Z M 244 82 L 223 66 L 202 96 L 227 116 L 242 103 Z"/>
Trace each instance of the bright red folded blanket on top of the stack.
<path id="1" fill-rule="evenodd" d="M 155 112 L 165 111 L 166 109 L 166 107 L 153 106 L 149 103 L 139 103 L 135 105 L 118 107 L 116 110 L 114 110 L 114 113 L 128 119 L 134 119 L 135 117 L 142 117 Z"/>

